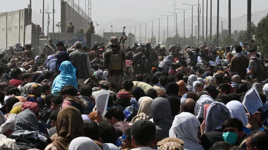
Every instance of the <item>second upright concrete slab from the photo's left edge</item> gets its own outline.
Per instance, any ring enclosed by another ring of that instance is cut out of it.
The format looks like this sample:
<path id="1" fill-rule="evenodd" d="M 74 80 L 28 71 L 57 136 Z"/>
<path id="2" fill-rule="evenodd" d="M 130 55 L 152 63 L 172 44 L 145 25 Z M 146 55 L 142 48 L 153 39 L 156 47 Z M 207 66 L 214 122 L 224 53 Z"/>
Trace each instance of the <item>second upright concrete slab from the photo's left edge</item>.
<path id="1" fill-rule="evenodd" d="M 13 12 L 7 12 L 7 47 L 13 46 Z"/>

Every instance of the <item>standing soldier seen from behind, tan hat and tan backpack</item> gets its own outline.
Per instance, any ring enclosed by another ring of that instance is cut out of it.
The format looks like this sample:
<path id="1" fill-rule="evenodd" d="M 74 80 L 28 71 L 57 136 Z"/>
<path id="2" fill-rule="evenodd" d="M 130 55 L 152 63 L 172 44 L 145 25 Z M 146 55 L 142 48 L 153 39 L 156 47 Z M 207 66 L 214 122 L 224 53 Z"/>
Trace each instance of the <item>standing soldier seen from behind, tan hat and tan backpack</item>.
<path id="1" fill-rule="evenodd" d="M 117 91 L 120 90 L 121 84 L 120 80 L 124 77 L 124 69 L 126 66 L 125 62 L 125 54 L 121 50 L 118 49 L 118 42 L 117 37 L 112 36 L 110 38 L 110 45 L 111 50 L 108 50 L 104 53 L 104 60 L 103 60 L 103 68 L 108 69 L 108 82 L 113 81 L 116 83 Z"/>

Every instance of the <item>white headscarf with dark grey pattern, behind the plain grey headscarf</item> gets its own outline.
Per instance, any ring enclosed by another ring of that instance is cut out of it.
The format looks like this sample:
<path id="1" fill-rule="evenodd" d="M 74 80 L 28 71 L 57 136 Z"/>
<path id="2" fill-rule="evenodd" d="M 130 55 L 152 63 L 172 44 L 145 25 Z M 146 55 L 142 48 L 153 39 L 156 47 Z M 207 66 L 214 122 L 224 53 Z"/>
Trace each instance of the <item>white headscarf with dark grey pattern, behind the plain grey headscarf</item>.
<path id="1" fill-rule="evenodd" d="M 204 119 L 204 104 L 211 104 L 214 100 L 209 95 L 201 95 L 199 100 L 197 100 L 194 107 L 194 114 L 197 119 Z"/>

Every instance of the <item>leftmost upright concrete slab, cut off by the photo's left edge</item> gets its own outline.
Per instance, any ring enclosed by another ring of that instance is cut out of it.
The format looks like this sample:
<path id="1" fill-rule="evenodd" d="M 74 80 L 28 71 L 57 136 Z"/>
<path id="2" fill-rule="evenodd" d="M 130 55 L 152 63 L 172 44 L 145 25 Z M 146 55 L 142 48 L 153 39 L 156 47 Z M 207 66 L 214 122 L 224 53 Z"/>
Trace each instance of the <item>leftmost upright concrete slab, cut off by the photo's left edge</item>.
<path id="1" fill-rule="evenodd" d="M 0 14 L 0 48 L 7 48 L 7 13 Z"/>

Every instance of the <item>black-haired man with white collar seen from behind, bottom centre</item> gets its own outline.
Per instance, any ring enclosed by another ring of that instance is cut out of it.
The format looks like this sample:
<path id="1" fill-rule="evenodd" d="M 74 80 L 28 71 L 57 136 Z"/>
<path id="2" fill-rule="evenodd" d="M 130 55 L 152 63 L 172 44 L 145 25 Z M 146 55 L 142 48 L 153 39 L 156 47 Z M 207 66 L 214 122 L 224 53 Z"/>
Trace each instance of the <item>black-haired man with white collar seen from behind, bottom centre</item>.
<path id="1" fill-rule="evenodd" d="M 157 143 L 156 128 L 149 120 L 138 120 L 130 127 L 132 150 L 152 150 Z"/>

